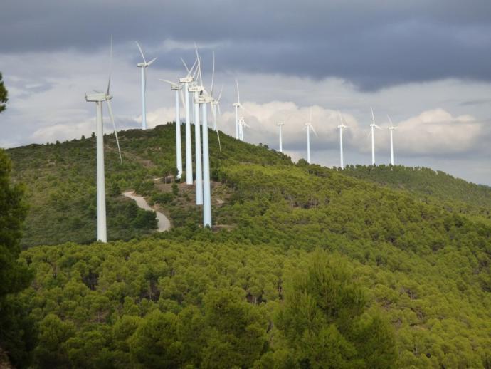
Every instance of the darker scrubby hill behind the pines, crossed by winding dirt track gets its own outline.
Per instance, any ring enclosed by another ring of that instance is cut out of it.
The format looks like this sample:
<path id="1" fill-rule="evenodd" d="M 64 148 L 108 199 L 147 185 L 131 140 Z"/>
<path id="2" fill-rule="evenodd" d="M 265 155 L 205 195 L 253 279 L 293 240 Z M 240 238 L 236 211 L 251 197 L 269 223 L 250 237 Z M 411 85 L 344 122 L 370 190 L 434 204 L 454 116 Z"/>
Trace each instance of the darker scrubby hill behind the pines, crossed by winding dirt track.
<path id="1" fill-rule="evenodd" d="M 107 237 L 109 240 L 129 240 L 152 233 L 157 223 L 152 220 L 152 212 L 139 209 L 121 193 L 136 189 L 140 194 L 152 193 L 158 197 L 160 192 L 155 185 L 159 182 L 154 179 L 174 175 L 176 171 L 175 126 L 128 130 L 118 136 L 122 165 L 114 135 L 105 136 Z M 194 137 L 194 131 L 191 136 Z M 237 142 L 226 135 L 222 137 L 221 147 L 222 152 L 216 135 L 211 135 L 212 172 L 216 172 L 221 162 L 292 165 L 285 155 Z M 7 152 L 13 162 L 14 180 L 26 184 L 31 204 L 21 245 L 26 248 L 66 241 L 81 244 L 95 241 L 95 137 L 16 147 Z M 190 191 L 183 188 L 183 193 L 186 192 Z M 184 203 L 190 202 L 187 200 Z M 178 207 L 175 212 L 176 222 L 179 222 Z"/>

